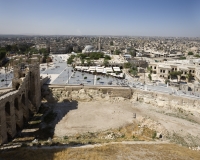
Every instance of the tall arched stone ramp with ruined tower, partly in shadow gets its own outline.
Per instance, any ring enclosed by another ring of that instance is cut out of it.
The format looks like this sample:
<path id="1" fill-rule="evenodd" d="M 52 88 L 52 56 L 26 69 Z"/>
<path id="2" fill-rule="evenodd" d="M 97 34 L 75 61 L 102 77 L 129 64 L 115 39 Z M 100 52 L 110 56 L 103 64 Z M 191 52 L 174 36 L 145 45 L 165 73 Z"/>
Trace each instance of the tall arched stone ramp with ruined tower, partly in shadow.
<path id="1" fill-rule="evenodd" d="M 0 144 L 13 138 L 38 111 L 43 82 L 38 64 L 14 67 L 12 89 L 0 93 Z"/>

